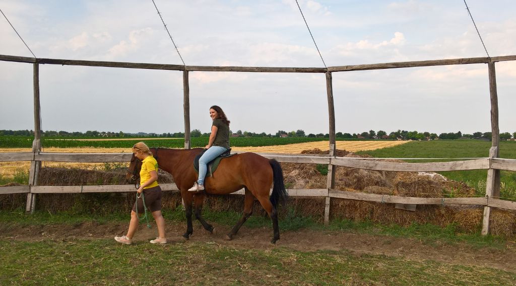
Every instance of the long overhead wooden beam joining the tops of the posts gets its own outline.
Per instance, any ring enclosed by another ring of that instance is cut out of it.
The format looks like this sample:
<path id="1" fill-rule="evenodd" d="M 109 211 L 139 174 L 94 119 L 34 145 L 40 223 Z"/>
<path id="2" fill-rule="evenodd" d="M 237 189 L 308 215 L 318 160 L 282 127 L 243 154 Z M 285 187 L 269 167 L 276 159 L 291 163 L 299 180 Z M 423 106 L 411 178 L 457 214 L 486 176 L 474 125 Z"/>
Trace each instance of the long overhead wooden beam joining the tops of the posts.
<path id="1" fill-rule="evenodd" d="M 63 60 L 63 59 L 39 59 L 29 57 L 18 57 L 0 55 L 0 61 L 58 64 L 58 65 L 78 65 L 78 66 L 101 66 L 101 67 L 123 67 L 123 68 L 142 68 L 142 69 L 164 69 L 164 70 L 188 70 L 188 71 L 243 71 L 249 73 L 326 73 L 327 71 L 352 71 L 370 70 L 401 67 L 420 67 L 436 65 L 456 65 L 456 64 L 479 64 L 489 62 L 514 61 L 516 56 L 502 56 L 492 58 L 461 58 L 446 60 L 394 62 L 378 64 L 360 64 L 322 67 L 260 67 L 260 66 L 185 66 L 173 64 L 152 64 L 152 63 L 129 63 L 129 62 L 106 62 L 106 61 L 82 61 L 82 60 Z"/>

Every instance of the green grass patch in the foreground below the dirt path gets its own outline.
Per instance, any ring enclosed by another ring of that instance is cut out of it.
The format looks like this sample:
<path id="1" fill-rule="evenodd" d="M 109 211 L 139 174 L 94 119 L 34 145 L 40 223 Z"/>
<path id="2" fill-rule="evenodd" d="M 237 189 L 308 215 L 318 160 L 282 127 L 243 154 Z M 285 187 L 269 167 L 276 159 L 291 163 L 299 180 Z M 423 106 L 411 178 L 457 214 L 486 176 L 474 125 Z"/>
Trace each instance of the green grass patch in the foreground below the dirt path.
<path id="1" fill-rule="evenodd" d="M 2 241 L 0 284 L 508 285 L 516 274 L 482 266 L 282 247 L 188 242 Z"/>

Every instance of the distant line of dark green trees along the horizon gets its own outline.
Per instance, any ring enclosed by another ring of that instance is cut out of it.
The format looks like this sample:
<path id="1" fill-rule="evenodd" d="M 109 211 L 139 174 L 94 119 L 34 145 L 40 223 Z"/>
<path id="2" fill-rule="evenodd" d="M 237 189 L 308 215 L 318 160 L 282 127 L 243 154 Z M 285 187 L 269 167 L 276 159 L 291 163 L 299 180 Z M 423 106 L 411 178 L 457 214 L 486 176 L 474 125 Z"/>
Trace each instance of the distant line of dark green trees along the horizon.
<path id="1" fill-rule="evenodd" d="M 12 136 L 34 136 L 33 130 L 0 130 L 0 135 L 12 135 Z M 105 132 L 105 131 L 86 131 L 86 132 L 67 132 L 67 131 L 41 131 L 41 135 L 45 137 L 52 136 L 60 136 L 60 137 L 173 137 L 173 138 L 183 138 L 185 133 L 183 132 L 175 132 L 175 133 L 124 133 L 120 132 Z M 194 129 L 190 132 L 191 137 L 209 137 L 209 133 L 202 133 L 199 129 Z M 305 134 L 305 132 L 301 129 L 297 131 L 283 131 L 278 130 L 276 134 L 272 135 L 271 133 L 267 134 L 265 132 L 262 133 L 254 133 L 241 130 L 233 131 L 230 130 L 230 136 L 232 137 L 311 137 L 311 138 L 329 138 L 330 135 L 328 133 L 318 133 L 318 134 Z M 462 132 L 450 132 L 450 133 L 441 133 L 437 135 L 436 133 L 430 132 L 417 132 L 417 131 L 406 131 L 406 130 L 397 130 L 393 131 L 389 134 L 383 130 L 374 131 L 369 130 L 369 132 L 362 133 L 335 133 L 336 138 L 358 138 L 358 139 L 393 139 L 393 140 L 434 140 L 434 139 L 466 139 L 466 138 L 487 138 L 491 139 L 491 132 L 475 132 L 473 134 L 462 134 Z M 504 132 L 500 133 L 501 140 L 508 140 L 511 138 L 516 138 L 516 132 L 509 133 Z"/>

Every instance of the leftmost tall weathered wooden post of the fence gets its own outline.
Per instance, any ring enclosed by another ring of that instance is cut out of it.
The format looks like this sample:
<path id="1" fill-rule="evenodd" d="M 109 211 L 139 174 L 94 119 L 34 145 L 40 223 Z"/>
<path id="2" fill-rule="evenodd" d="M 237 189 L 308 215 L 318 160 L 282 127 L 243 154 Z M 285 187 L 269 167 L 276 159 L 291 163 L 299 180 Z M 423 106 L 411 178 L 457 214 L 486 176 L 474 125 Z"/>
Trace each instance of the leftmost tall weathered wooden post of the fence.
<path id="1" fill-rule="evenodd" d="M 33 153 L 37 154 L 41 151 L 41 114 L 39 101 L 39 63 L 34 63 L 34 141 Z M 29 169 L 29 188 L 38 185 L 39 170 L 41 169 L 41 161 L 32 160 Z M 25 211 L 33 213 L 36 207 L 36 194 L 27 193 L 27 204 Z"/>

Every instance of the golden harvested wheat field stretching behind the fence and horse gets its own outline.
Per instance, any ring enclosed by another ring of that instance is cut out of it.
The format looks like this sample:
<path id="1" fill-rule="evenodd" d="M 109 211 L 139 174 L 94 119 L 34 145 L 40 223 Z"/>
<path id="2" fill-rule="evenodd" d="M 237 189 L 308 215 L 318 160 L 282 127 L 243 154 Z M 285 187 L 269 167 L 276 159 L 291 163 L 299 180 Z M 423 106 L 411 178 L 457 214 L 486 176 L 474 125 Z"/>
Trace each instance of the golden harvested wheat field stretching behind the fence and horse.
<path id="1" fill-rule="evenodd" d="M 147 140 L 147 138 L 146 138 Z M 376 150 L 405 144 L 408 141 L 337 141 L 337 149 L 357 152 L 362 150 Z M 257 153 L 286 153 L 299 154 L 303 150 L 319 149 L 323 151 L 329 150 L 328 141 L 307 142 L 299 144 L 288 144 L 278 146 L 263 147 L 233 147 L 235 152 L 257 152 Z M 2 148 L 0 153 L 11 152 L 31 152 L 30 148 Z M 131 153 L 130 148 L 43 148 L 43 152 L 49 153 Z M 126 164 L 126 163 L 121 163 Z M 0 175 L 4 177 L 13 177 L 16 172 L 27 172 L 30 162 L 0 162 Z M 63 163 L 63 162 L 43 162 L 43 167 L 58 168 L 79 168 L 79 169 L 103 169 L 104 163 Z M 120 166 L 120 164 L 118 165 Z M 126 166 L 126 165 L 123 165 Z"/>

